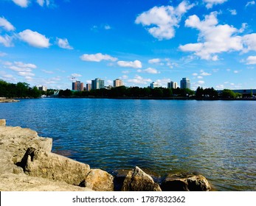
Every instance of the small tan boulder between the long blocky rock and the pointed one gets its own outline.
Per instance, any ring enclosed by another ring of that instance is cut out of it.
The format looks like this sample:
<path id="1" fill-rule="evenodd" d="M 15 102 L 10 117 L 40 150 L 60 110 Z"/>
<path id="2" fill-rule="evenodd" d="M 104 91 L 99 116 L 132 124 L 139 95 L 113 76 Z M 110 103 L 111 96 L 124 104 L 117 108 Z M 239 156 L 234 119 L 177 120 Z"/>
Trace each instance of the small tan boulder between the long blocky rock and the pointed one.
<path id="1" fill-rule="evenodd" d="M 114 191 L 114 177 L 101 169 L 91 169 L 80 186 L 91 188 L 93 191 Z"/>

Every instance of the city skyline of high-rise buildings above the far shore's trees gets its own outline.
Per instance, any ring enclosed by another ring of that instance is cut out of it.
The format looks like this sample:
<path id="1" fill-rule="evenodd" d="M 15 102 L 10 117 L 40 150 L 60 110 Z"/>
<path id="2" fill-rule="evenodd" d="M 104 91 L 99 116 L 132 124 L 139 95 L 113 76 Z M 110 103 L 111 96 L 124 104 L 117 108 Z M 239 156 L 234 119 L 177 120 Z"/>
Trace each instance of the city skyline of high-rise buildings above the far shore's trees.
<path id="1" fill-rule="evenodd" d="M 120 86 L 123 86 L 123 82 L 121 79 L 115 79 L 113 81 L 113 87 L 117 88 Z M 152 82 L 149 86 L 150 88 L 159 88 L 159 84 L 157 82 Z M 97 90 L 97 89 L 102 89 L 102 88 L 106 88 L 106 89 L 111 89 L 112 86 L 109 85 L 107 87 L 105 87 L 105 83 L 103 79 L 100 78 L 96 78 L 94 80 L 91 80 L 91 84 L 86 84 L 86 86 L 83 84 L 83 82 L 80 81 L 75 81 L 72 82 L 72 90 L 78 90 L 78 91 L 89 91 L 89 90 Z M 172 89 L 176 89 L 178 88 L 178 83 L 177 82 L 168 82 L 167 83 L 167 88 L 172 88 Z M 188 78 L 182 78 L 181 79 L 181 84 L 180 84 L 180 88 L 181 89 L 190 89 L 190 79 Z"/>

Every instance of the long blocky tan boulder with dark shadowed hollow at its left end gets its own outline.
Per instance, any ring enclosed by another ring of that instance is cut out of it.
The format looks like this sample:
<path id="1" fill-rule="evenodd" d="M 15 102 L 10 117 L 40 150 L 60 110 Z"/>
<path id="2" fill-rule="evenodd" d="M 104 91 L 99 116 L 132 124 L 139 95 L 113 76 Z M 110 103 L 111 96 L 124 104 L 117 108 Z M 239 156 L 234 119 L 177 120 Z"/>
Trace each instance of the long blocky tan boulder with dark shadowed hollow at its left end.
<path id="1" fill-rule="evenodd" d="M 89 174 L 90 166 L 59 154 L 30 147 L 21 160 L 25 174 L 79 185 Z"/>

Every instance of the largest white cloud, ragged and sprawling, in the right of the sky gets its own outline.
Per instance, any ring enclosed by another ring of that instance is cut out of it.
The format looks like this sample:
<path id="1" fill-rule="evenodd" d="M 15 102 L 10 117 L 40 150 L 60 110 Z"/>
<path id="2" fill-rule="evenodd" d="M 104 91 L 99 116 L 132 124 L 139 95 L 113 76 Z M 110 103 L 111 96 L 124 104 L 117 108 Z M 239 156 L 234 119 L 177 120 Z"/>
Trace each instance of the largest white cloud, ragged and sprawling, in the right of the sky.
<path id="1" fill-rule="evenodd" d="M 185 26 L 200 31 L 199 42 L 179 46 L 179 49 L 194 51 L 201 59 L 216 61 L 219 53 L 243 49 L 242 37 L 236 35 L 239 30 L 227 24 L 219 25 L 215 12 L 206 15 L 204 21 L 200 21 L 197 15 L 191 15 L 185 21 Z"/>

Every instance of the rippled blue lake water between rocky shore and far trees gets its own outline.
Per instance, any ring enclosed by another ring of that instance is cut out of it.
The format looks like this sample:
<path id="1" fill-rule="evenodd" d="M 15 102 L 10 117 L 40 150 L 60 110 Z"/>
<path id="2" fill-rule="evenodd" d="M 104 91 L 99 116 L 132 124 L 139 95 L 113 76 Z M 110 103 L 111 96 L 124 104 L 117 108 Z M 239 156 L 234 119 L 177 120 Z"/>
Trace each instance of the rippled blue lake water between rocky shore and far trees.
<path id="1" fill-rule="evenodd" d="M 198 171 L 218 191 L 256 191 L 254 101 L 22 99 L 0 118 L 91 168 Z"/>

